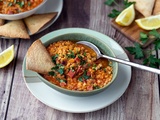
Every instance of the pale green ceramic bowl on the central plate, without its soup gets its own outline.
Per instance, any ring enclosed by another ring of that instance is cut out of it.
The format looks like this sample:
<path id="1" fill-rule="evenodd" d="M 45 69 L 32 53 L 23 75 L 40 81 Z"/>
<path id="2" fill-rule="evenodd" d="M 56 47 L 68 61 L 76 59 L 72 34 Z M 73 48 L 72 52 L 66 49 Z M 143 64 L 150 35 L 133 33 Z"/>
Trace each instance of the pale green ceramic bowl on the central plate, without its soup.
<path id="1" fill-rule="evenodd" d="M 60 36 L 57 36 L 57 37 L 53 36 L 52 39 L 47 40 L 43 44 L 47 47 L 49 44 L 51 44 L 53 42 L 56 42 L 56 41 L 59 41 L 59 40 L 88 41 L 88 42 L 91 42 L 91 43 L 95 44 L 103 54 L 115 57 L 115 54 L 108 47 L 107 44 L 103 43 L 100 39 L 98 39 L 98 38 L 96 38 L 94 36 L 87 35 L 87 34 L 82 34 L 82 33 L 69 33 L 69 34 L 64 34 L 64 35 L 60 35 Z M 45 84 L 47 84 L 49 87 L 51 87 L 54 90 L 57 90 L 57 91 L 59 91 L 61 93 L 64 93 L 64 94 L 67 94 L 67 95 L 73 95 L 73 96 L 89 96 L 89 95 L 94 95 L 94 94 L 97 94 L 99 92 L 104 91 L 105 89 L 108 88 L 109 85 L 111 85 L 111 83 L 113 83 L 113 81 L 115 80 L 115 78 L 117 76 L 118 63 L 117 62 L 112 62 L 112 67 L 113 67 L 113 78 L 112 78 L 112 81 L 109 84 L 107 84 L 106 86 L 104 86 L 103 88 L 92 90 L 92 91 L 72 91 L 72 90 L 67 90 L 67 89 L 61 88 L 61 87 L 59 87 L 57 85 L 54 85 L 54 84 L 48 82 L 40 74 L 38 74 L 38 77 Z"/>

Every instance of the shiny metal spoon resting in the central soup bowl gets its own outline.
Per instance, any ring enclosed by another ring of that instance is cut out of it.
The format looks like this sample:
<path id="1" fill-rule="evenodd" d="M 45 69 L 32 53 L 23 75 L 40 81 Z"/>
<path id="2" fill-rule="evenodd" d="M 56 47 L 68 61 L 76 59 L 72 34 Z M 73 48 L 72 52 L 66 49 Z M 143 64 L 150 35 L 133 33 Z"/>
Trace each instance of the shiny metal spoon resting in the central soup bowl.
<path id="1" fill-rule="evenodd" d="M 107 58 L 109 60 L 112 60 L 112 61 L 115 61 L 115 62 L 119 62 L 119 63 L 125 64 L 125 65 L 129 65 L 129 66 L 136 67 L 136 68 L 139 68 L 139 69 L 142 69 L 142 70 L 146 70 L 146 71 L 150 71 L 150 72 L 153 72 L 153 73 L 160 74 L 160 70 L 159 69 L 151 68 L 151 67 L 147 67 L 147 66 L 140 65 L 140 64 L 137 64 L 137 63 L 129 62 L 127 60 L 122 60 L 122 59 L 119 59 L 119 58 L 103 55 L 103 54 L 101 54 L 101 52 L 99 51 L 99 49 L 94 44 L 92 44 L 90 42 L 79 41 L 77 43 L 84 44 L 84 45 L 92 48 L 96 52 L 96 54 L 97 54 L 97 59 L 99 59 L 100 57 L 103 57 L 103 58 Z"/>

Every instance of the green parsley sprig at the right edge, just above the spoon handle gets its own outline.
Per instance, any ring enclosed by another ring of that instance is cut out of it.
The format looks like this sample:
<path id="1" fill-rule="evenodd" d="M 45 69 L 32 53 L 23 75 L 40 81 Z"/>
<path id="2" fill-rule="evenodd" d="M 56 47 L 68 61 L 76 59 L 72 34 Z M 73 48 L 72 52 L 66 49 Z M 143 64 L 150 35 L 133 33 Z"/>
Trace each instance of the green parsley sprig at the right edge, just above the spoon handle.
<path id="1" fill-rule="evenodd" d="M 160 66 L 160 59 L 153 55 L 153 52 L 160 50 L 160 33 L 158 33 L 155 29 L 150 31 L 148 34 L 141 32 L 140 40 L 142 43 L 146 43 L 149 40 L 149 36 L 153 36 L 155 38 L 153 49 L 146 51 L 139 43 L 135 43 L 134 47 L 125 47 L 125 49 L 130 54 L 134 55 L 135 59 L 143 59 L 144 65 L 158 68 Z"/>

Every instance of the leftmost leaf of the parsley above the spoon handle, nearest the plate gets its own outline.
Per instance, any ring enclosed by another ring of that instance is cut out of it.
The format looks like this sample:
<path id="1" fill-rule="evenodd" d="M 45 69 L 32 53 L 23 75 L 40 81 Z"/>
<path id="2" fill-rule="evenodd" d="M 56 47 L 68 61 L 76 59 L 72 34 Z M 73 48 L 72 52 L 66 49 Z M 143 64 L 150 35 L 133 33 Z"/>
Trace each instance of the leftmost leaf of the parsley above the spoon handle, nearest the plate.
<path id="1" fill-rule="evenodd" d="M 134 44 L 135 47 L 125 47 L 126 50 L 132 55 L 134 55 L 135 59 L 141 59 L 144 57 L 143 50 L 141 48 L 141 45 L 138 43 Z"/>

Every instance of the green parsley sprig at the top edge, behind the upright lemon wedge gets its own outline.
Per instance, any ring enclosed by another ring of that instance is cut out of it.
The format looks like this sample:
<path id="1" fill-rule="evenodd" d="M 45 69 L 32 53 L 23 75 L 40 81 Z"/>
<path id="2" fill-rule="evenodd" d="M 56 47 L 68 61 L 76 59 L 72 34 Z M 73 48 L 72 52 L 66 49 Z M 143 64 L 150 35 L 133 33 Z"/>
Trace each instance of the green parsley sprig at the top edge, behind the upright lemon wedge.
<path id="1" fill-rule="evenodd" d="M 113 4 L 115 4 L 116 6 L 119 7 L 119 4 L 118 4 L 115 0 L 106 0 L 106 1 L 104 2 L 104 4 L 105 4 L 105 5 L 108 5 L 108 6 L 112 6 Z M 135 2 L 128 2 L 128 0 L 124 0 L 124 1 L 123 1 L 123 5 L 124 5 L 124 6 L 123 6 L 123 9 L 129 7 L 129 6 L 132 5 L 132 4 L 135 4 Z M 123 10 L 123 9 L 122 9 L 122 10 Z M 121 11 L 122 11 L 122 10 L 121 10 Z M 108 14 L 108 17 L 110 17 L 110 18 L 115 18 L 115 17 L 117 17 L 117 16 L 121 13 L 121 11 L 116 10 L 116 9 L 113 9 L 113 10 L 111 11 L 111 13 Z"/>

